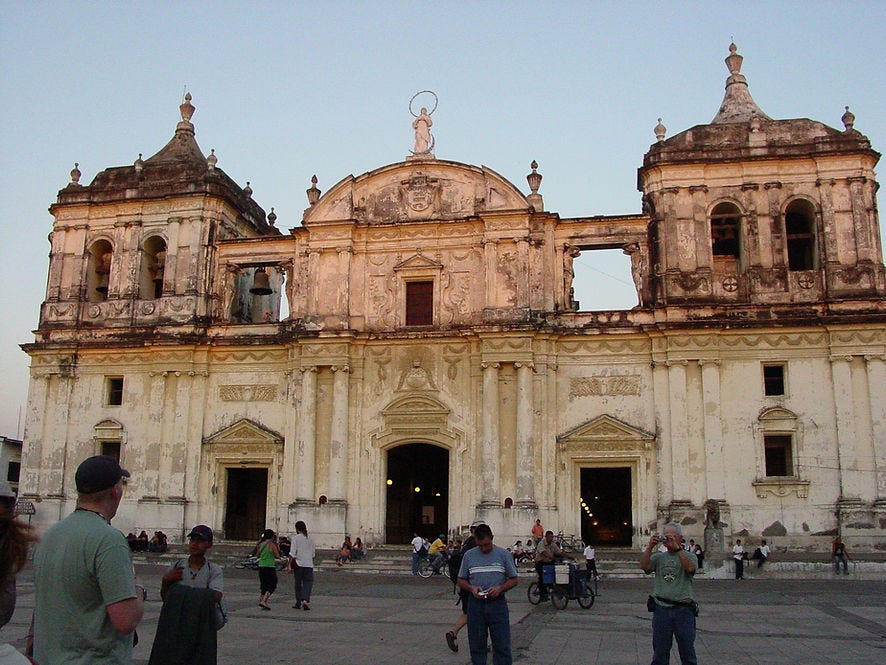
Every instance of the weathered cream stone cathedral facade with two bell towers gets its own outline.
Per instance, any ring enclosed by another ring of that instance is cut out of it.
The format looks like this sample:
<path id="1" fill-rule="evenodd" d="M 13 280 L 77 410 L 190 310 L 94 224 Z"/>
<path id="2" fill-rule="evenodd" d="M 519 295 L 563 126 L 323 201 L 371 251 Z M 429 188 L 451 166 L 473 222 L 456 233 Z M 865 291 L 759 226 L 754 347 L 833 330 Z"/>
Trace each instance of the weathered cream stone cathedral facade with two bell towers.
<path id="1" fill-rule="evenodd" d="M 561 218 L 535 164 L 526 194 L 437 159 L 424 109 L 410 157 L 315 181 L 287 233 L 198 147 L 190 96 L 156 155 L 75 167 L 24 345 L 35 523 L 103 453 L 132 471 L 117 521 L 173 540 L 482 518 L 504 542 L 540 518 L 597 544 L 676 520 L 886 546 L 879 154 L 848 109 L 771 119 L 734 46 L 727 67 L 709 124 L 656 128 L 640 214 Z M 582 311 L 573 261 L 611 248 L 639 304 Z"/>

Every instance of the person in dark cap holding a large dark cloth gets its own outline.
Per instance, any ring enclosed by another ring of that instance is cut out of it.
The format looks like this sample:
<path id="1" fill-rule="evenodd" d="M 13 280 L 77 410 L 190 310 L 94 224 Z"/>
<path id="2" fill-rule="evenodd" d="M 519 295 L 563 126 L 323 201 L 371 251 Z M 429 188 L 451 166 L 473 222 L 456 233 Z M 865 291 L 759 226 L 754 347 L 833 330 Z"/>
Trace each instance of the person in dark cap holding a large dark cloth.
<path id="1" fill-rule="evenodd" d="M 216 631 L 227 623 L 222 605 L 225 576 L 221 566 L 206 558 L 212 529 L 198 524 L 188 534 L 188 556 L 179 559 L 160 582 L 163 607 L 148 665 L 215 665 Z"/>

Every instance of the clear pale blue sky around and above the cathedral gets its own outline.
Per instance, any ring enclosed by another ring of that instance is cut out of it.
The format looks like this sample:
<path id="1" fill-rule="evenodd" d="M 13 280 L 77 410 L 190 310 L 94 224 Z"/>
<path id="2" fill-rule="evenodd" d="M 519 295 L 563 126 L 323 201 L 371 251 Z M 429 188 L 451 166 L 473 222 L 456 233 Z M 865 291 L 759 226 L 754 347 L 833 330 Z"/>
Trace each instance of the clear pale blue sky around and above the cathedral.
<path id="1" fill-rule="evenodd" d="M 402 161 L 409 99 L 433 90 L 438 158 L 524 193 L 535 159 L 564 217 L 640 212 L 636 169 L 714 117 L 734 38 L 773 118 L 855 128 L 886 149 L 886 2 L 20 2 L 0 0 L 0 434 L 20 433 L 46 285 L 47 207 L 80 163 L 99 171 L 172 137 L 185 89 L 197 141 L 277 226 L 326 191 Z M 617 254 L 617 252 L 616 252 Z M 630 307 L 624 261 L 580 257 L 582 309 Z M 584 265 L 582 265 L 584 264 Z"/>

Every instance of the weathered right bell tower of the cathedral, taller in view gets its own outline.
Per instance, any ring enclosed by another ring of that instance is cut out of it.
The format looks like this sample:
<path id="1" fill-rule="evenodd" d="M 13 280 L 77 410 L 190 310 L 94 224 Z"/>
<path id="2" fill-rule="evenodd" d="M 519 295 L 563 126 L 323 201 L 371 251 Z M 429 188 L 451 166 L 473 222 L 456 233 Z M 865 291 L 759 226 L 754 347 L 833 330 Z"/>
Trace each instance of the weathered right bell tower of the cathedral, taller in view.
<path id="1" fill-rule="evenodd" d="M 731 44 L 714 119 L 669 139 L 659 123 L 639 169 L 654 304 L 882 298 L 879 153 L 848 107 L 843 131 L 806 118 L 773 120 L 751 97 L 741 65 Z"/>

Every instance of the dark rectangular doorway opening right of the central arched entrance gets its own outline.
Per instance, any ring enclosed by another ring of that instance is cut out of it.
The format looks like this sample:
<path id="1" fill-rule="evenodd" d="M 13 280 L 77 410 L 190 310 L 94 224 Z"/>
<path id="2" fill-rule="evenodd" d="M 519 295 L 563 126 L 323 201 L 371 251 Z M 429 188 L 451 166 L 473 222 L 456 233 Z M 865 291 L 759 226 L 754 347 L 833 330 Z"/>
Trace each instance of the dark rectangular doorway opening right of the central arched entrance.
<path id="1" fill-rule="evenodd" d="M 581 537 L 594 545 L 631 545 L 631 470 L 581 470 Z"/>

